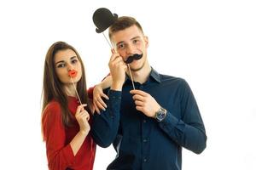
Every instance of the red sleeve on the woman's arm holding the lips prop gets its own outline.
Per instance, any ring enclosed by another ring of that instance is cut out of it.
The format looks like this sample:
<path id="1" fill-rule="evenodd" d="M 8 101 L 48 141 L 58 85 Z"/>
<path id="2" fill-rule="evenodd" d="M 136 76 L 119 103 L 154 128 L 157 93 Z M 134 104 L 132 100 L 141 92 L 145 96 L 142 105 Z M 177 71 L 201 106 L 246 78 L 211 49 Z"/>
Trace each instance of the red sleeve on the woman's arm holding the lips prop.
<path id="1" fill-rule="evenodd" d="M 49 169 L 63 170 L 73 165 L 74 156 L 70 144 L 65 144 L 65 127 L 61 122 L 61 108 L 49 105 L 43 116 L 44 139 Z"/>

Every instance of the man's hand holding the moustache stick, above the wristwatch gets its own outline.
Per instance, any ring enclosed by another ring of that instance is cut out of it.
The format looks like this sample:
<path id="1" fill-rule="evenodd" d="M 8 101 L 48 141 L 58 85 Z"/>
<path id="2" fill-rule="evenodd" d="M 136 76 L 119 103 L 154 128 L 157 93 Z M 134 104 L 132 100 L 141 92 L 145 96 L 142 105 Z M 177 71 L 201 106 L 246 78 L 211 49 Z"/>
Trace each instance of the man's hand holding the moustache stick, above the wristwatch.
<path id="1" fill-rule="evenodd" d="M 144 115 L 154 117 L 155 112 L 160 110 L 160 105 L 150 94 L 142 90 L 131 90 L 130 93 L 134 94 L 132 99 L 135 101 L 137 111 L 142 111 Z"/>

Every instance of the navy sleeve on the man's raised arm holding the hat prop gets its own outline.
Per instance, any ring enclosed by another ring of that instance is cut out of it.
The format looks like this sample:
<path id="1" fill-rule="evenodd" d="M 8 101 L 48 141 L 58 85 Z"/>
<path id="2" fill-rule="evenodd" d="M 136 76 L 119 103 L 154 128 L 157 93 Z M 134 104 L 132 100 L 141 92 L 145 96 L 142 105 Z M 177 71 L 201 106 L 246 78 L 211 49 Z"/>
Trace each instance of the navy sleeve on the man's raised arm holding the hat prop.
<path id="1" fill-rule="evenodd" d="M 121 91 L 109 90 L 106 111 L 101 114 L 95 113 L 93 116 L 91 135 L 96 144 L 101 147 L 108 147 L 113 143 L 118 129 L 120 119 Z"/>

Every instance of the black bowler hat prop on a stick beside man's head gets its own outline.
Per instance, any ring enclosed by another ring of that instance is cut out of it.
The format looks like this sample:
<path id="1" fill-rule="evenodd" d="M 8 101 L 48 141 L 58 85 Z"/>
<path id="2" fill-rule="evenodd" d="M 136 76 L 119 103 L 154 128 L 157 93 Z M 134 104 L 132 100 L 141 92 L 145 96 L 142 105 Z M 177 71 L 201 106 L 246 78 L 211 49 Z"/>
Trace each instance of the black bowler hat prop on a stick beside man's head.
<path id="1" fill-rule="evenodd" d="M 108 8 L 98 8 L 92 16 L 92 20 L 97 27 L 96 32 L 101 33 L 107 30 L 109 26 L 113 25 L 117 18 L 118 15 L 112 14 Z"/>

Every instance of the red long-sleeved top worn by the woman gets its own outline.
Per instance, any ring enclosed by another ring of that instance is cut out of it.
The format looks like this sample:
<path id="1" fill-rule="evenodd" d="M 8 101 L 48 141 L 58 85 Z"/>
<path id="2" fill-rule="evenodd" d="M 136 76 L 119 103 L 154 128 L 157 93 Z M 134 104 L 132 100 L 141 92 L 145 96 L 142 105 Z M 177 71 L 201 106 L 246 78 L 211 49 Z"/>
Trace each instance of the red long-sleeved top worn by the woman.
<path id="1" fill-rule="evenodd" d="M 79 106 L 78 99 L 68 98 L 68 109 L 74 115 Z M 91 118 L 90 118 L 91 120 Z M 79 133 L 79 123 L 65 128 L 61 122 L 61 105 L 51 101 L 43 115 L 44 138 L 49 170 L 92 170 L 96 154 L 96 144 L 90 133 L 84 139 L 76 156 L 73 156 L 70 142 Z"/>

